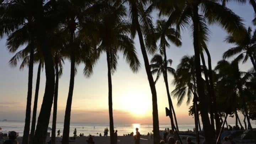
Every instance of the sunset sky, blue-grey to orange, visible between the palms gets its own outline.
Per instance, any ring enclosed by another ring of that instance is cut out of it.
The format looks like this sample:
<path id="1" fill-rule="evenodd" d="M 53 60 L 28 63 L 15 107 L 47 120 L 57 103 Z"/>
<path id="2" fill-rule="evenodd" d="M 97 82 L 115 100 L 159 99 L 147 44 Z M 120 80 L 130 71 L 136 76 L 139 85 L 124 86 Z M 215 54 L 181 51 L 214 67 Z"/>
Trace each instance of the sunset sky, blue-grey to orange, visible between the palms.
<path id="1" fill-rule="evenodd" d="M 246 27 L 251 26 L 253 30 L 255 29 L 251 22 L 254 17 L 254 11 L 248 2 L 244 5 L 230 3 L 227 6 L 243 18 Z M 158 16 L 153 14 L 153 18 L 154 20 L 157 20 Z M 228 48 L 233 47 L 233 45 L 223 42 L 227 33 L 218 25 L 211 25 L 209 28 L 210 41 L 208 43 L 208 49 L 212 56 L 212 66 L 214 68 L 217 62 L 222 59 L 222 54 Z M 173 60 L 172 68 L 175 69 L 184 55 L 194 54 L 191 30 L 187 29 L 183 31 L 181 36 L 182 46 L 177 48 L 171 45 L 167 50 L 167 59 Z M 9 65 L 9 60 L 14 54 L 8 52 L 5 42 L 5 39 L 0 41 L 0 120 L 9 119 L 25 121 L 28 68 L 19 70 L 19 65 L 17 67 Z M 152 123 L 153 121 L 151 92 L 137 37 L 134 42 L 141 68 L 137 73 L 133 73 L 125 60 L 123 60 L 122 55 L 119 55 L 117 71 L 112 75 L 114 123 Z M 149 55 L 149 59 L 151 57 L 152 56 Z M 86 78 L 83 75 L 83 67 L 83 64 L 79 65 L 78 73 L 75 76 L 71 122 L 108 123 L 106 54 L 102 54 L 95 66 L 94 74 L 90 78 Z M 251 67 L 252 65 L 249 62 L 240 65 L 242 71 L 246 71 Z M 31 110 L 33 110 L 37 68 L 38 64 L 35 64 L 33 70 Z M 68 97 L 69 75 L 70 63 L 68 60 L 65 60 L 63 75 L 59 80 L 58 122 L 64 121 L 65 106 Z M 168 81 L 170 91 L 174 89 L 172 79 L 173 77 L 169 75 Z M 42 104 L 45 81 L 45 71 L 43 70 L 41 72 L 37 116 Z M 158 96 L 159 123 L 170 123 L 169 117 L 165 116 L 165 107 L 168 107 L 168 100 L 162 77 L 156 83 L 156 90 Z M 180 107 L 177 107 L 177 99 L 172 97 L 172 101 L 174 103 L 178 123 L 193 123 L 193 117 L 188 115 L 188 107 L 192 105 L 192 102 L 187 106 L 186 101 L 184 101 Z M 50 121 L 52 121 L 52 117 L 50 118 Z M 234 123 L 234 119 L 228 118 L 228 122 Z"/>

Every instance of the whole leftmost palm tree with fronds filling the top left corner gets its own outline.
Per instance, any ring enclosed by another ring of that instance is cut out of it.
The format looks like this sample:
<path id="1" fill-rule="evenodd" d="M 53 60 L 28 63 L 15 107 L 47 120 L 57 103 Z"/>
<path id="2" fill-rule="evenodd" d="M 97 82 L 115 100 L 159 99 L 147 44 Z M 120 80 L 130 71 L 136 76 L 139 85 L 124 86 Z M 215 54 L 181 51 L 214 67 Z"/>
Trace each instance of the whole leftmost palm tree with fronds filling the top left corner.
<path id="1" fill-rule="evenodd" d="M 28 91 L 26 118 L 22 144 L 28 144 L 30 132 L 30 117 L 31 117 L 31 98 L 32 98 L 32 79 L 33 79 L 33 57 L 34 57 L 34 32 L 33 32 L 33 17 L 30 13 L 30 2 L 28 1 L 1 1 L 1 38 L 6 35 L 14 38 L 15 34 L 21 34 L 27 37 L 27 41 L 19 41 L 18 45 L 8 43 L 10 52 L 15 52 L 22 44 L 30 43 L 30 60 L 28 67 Z M 26 22 L 25 22 L 26 21 Z M 16 38 L 16 37 L 15 37 Z M 17 44 L 17 43 L 16 43 Z"/>

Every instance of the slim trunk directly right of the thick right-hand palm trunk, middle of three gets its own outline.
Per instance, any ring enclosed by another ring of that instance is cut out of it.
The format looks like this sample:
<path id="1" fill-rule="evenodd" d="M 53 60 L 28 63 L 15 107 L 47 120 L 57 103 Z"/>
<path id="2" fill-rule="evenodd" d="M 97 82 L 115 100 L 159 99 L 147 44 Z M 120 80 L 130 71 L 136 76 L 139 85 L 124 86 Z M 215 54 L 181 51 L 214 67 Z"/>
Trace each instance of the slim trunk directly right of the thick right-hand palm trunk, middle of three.
<path id="1" fill-rule="evenodd" d="M 203 52 L 201 52 L 200 55 L 201 55 L 202 64 L 203 64 L 204 78 L 206 80 L 206 89 L 208 91 L 208 97 L 209 97 L 208 102 L 209 102 L 209 108 L 210 108 L 210 123 L 212 126 L 212 132 L 214 133 L 215 128 L 214 128 L 214 116 L 213 116 L 213 105 L 212 105 L 212 91 L 210 89 L 210 84 L 209 84 L 209 80 L 208 80 L 208 71 L 206 69 L 206 63 L 204 60 Z"/>

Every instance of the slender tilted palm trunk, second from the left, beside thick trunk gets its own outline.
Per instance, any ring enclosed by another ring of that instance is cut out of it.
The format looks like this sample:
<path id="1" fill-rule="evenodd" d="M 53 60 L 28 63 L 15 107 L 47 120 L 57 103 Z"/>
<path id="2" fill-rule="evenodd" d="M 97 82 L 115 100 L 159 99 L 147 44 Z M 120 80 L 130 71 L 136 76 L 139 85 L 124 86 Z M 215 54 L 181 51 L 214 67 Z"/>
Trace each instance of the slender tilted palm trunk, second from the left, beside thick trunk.
<path id="1" fill-rule="evenodd" d="M 37 100 L 38 100 L 38 92 L 39 92 L 39 85 L 40 85 L 41 67 L 42 67 L 42 63 L 41 61 L 39 61 L 38 70 L 37 70 L 36 92 L 35 92 L 34 106 L 33 106 L 33 116 L 32 116 L 31 131 L 30 131 L 30 142 L 33 141 L 34 130 L 36 127 Z"/>

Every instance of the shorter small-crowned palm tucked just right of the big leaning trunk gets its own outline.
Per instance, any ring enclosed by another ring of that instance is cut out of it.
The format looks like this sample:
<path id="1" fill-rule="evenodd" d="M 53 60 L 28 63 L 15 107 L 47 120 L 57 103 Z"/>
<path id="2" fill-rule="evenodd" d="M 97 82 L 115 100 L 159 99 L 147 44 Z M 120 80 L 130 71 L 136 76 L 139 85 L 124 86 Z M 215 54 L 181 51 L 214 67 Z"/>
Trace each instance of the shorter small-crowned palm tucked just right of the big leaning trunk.
<path id="1" fill-rule="evenodd" d="M 168 71 L 169 73 L 174 75 L 175 74 L 175 69 L 169 67 L 168 64 L 170 64 L 170 65 L 172 64 L 171 59 L 168 59 L 165 62 L 165 60 L 162 58 L 162 55 L 155 54 L 153 56 L 153 58 L 151 59 L 150 67 L 152 69 L 151 73 L 156 74 L 155 83 L 156 83 L 156 81 L 158 81 L 159 77 L 163 73 L 163 77 L 164 77 L 164 81 L 165 81 L 165 87 L 166 87 L 166 91 L 167 91 L 168 102 L 169 102 L 169 108 L 170 108 L 171 127 L 172 127 L 172 130 L 174 130 L 175 125 L 174 125 L 174 119 L 173 119 L 173 116 L 172 116 L 172 111 L 174 111 L 174 110 L 172 108 L 172 101 L 171 101 L 171 96 L 170 96 L 170 93 L 169 93 L 169 86 L 168 86 L 167 75 L 166 75 L 165 71 L 166 72 Z"/>

